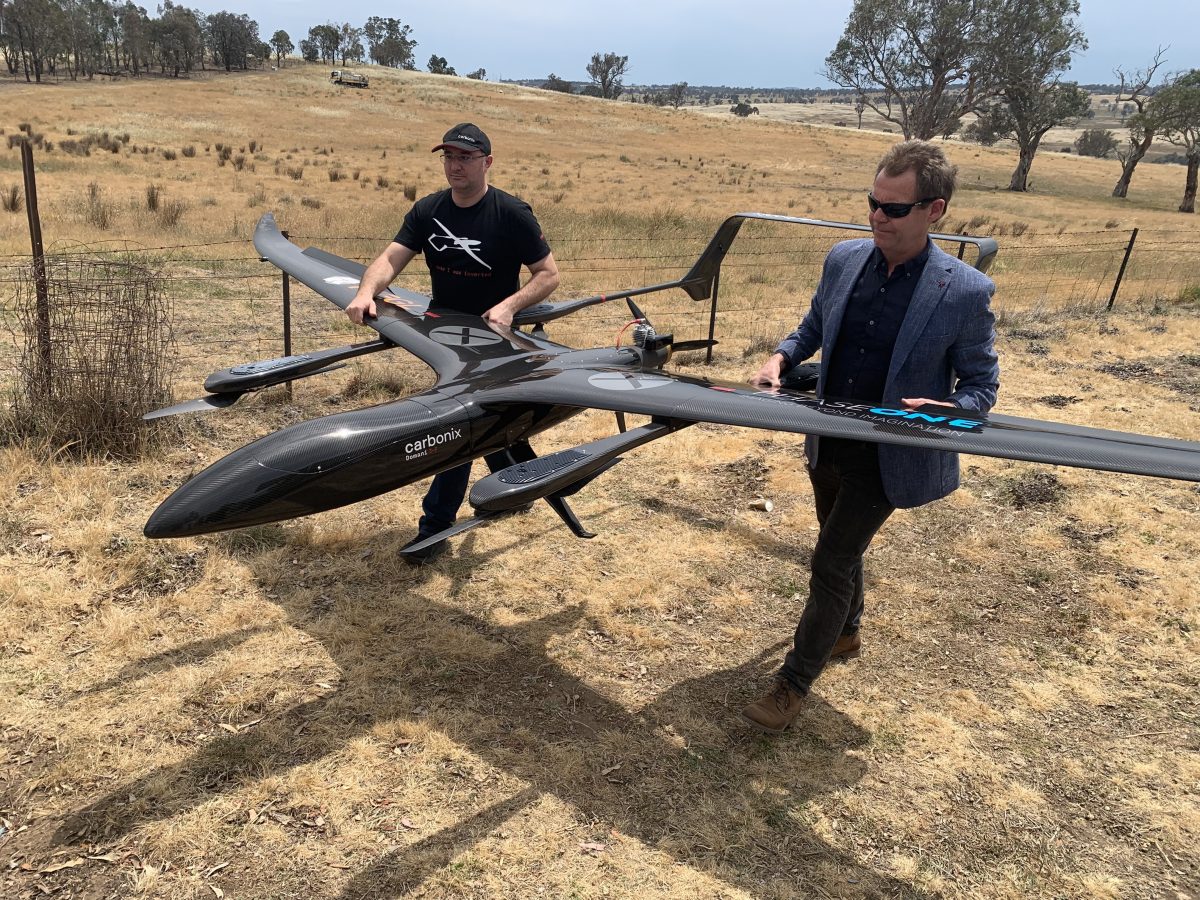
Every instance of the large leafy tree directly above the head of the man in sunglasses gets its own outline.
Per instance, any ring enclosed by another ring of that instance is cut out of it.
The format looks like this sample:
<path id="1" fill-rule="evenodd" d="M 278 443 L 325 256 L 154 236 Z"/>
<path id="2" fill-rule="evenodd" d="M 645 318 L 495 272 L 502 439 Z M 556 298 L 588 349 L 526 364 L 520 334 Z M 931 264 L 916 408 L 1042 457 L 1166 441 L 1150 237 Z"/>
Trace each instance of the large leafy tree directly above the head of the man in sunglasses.
<path id="1" fill-rule="evenodd" d="M 990 96 L 995 23 L 985 0 L 854 0 L 824 76 L 928 140 Z"/>

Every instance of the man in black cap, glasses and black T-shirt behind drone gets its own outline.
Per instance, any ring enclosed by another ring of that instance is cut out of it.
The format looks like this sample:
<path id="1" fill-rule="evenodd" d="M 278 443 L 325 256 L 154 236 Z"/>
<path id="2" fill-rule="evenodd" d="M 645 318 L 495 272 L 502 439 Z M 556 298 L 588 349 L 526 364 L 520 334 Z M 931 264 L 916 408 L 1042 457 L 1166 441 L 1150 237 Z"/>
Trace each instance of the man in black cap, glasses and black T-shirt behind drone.
<path id="1" fill-rule="evenodd" d="M 376 295 L 425 254 L 433 283 L 431 308 L 481 316 L 500 328 L 527 306 L 545 300 L 558 287 L 558 265 L 529 204 L 487 184 L 492 142 L 470 122 L 456 125 L 433 151 L 442 151 L 450 188 L 422 197 L 386 250 L 367 266 L 346 314 L 361 325 L 376 314 Z M 530 278 L 521 284 L 521 266 Z M 467 494 L 470 463 L 433 476 L 421 506 L 418 535 L 424 540 L 454 524 Z M 428 562 L 445 551 L 445 541 L 406 556 Z"/>

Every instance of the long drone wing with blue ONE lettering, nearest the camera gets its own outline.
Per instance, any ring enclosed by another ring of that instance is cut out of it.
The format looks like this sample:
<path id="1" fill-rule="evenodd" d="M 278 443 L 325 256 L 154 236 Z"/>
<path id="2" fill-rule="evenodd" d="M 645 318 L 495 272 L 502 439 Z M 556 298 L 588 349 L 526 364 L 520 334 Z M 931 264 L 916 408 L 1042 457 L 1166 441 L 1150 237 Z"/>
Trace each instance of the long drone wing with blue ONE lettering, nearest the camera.
<path id="1" fill-rule="evenodd" d="M 1200 443 L 1195 442 L 1037 419 L 984 416 L 949 407 L 910 410 L 821 401 L 811 394 L 671 372 L 544 370 L 488 390 L 486 402 L 496 401 L 592 407 L 671 424 L 738 425 L 1200 481 Z"/>

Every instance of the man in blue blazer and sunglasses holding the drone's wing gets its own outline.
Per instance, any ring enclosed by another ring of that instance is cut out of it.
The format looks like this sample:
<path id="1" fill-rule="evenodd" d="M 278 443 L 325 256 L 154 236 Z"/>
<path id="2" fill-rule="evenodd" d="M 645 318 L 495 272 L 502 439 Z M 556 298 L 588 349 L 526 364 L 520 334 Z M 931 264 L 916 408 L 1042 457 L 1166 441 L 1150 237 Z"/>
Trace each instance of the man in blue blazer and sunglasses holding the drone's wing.
<path id="1" fill-rule="evenodd" d="M 821 397 L 991 408 L 1000 386 L 989 308 L 995 284 L 929 239 L 955 174 L 935 144 L 906 140 L 888 150 L 866 194 L 872 238 L 829 251 L 808 314 L 752 382 L 779 386 L 785 372 L 821 350 Z M 742 710 L 774 734 L 799 714 L 830 659 L 859 655 L 863 554 L 875 533 L 893 510 L 959 486 L 953 452 L 812 436 L 804 451 L 821 526 L 809 599 L 775 686 Z"/>

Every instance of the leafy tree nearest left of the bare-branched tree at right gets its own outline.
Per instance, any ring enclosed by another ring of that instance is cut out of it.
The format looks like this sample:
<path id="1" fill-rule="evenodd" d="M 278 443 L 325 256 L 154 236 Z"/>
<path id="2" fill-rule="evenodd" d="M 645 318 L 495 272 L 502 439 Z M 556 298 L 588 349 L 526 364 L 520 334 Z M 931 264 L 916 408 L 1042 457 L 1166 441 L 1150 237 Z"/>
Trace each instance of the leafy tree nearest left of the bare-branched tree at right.
<path id="1" fill-rule="evenodd" d="M 1087 47 L 1075 25 L 1079 0 L 1008 0 L 1001 7 L 996 59 L 998 97 L 979 112 L 979 128 L 1016 140 L 1018 162 L 1009 191 L 1027 191 L 1042 138 L 1087 113 L 1087 91 L 1058 78 L 1075 50 Z"/>

